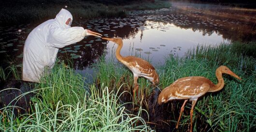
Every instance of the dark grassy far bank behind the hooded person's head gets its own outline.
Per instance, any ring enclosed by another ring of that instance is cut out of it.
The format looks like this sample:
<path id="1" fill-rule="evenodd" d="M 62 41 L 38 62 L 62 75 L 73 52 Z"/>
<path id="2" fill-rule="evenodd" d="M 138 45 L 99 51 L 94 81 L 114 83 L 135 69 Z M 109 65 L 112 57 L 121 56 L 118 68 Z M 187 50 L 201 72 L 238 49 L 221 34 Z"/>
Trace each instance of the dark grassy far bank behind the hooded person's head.
<path id="1" fill-rule="evenodd" d="M 0 5 L 0 24 L 42 23 L 55 18 L 61 8 L 71 12 L 74 21 L 96 17 L 124 17 L 130 10 L 169 8 L 168 1 L 155 0 L 11 0 Z"/>

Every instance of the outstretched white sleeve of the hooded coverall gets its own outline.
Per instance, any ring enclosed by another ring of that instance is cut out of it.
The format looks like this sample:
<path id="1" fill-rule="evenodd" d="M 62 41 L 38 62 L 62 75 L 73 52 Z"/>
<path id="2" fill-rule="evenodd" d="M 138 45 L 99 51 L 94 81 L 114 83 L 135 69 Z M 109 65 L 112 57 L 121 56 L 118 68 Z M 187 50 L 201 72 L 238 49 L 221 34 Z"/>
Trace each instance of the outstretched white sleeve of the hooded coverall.
<path id="1" fill-rule="evenodd" d="M 51 27 L 49 35 L 46 38 L 48 45 L 62 48 L 75 42 L 79 42 L 84 39 L 82 33 L 83 27 L 74 26 L 67 29 L 60 27 Z"/>

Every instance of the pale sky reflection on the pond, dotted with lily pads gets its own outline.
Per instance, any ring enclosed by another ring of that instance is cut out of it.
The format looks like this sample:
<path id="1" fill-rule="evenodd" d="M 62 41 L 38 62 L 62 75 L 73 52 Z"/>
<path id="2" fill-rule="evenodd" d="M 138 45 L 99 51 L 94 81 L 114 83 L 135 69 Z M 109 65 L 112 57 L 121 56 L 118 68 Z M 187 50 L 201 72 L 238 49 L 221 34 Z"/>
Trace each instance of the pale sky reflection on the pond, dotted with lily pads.
<path id="1" fill-rule="evenodd" d="M 182 29 L 174 24 L 145 21 L 143 27 L 133 38 L 123 40 L 121 54 L 137 55 L 151 61 L 153 65 L 164 63 L 168 54 L 183 56 L 188 49 L 198 44 L 228 43 L 228 40 L 215 32 L 211 35 L 202 35 L 202 32 L 198 30 Z M 116 47 L 114 43 L 109 42 L 108 57 L 115 53 L 115 50 L 112 50 L 113 47 Z"/>

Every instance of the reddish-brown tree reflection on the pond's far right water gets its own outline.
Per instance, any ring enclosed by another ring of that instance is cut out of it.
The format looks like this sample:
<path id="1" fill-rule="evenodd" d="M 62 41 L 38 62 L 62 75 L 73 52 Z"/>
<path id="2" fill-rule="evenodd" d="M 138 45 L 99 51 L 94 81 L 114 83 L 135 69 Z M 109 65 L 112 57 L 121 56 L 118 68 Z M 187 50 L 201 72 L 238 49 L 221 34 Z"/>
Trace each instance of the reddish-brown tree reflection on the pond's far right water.
<path id="1" fill-rule="evenodd" d="M 252 41 L 256 40 L 255 16 L 256 11 L 251 10 L 173 7 L 170 11 L 151 13 L 148 19 L 199 31 L 202 35 L 210 36 L 215 32 L 228 40 Z"/>

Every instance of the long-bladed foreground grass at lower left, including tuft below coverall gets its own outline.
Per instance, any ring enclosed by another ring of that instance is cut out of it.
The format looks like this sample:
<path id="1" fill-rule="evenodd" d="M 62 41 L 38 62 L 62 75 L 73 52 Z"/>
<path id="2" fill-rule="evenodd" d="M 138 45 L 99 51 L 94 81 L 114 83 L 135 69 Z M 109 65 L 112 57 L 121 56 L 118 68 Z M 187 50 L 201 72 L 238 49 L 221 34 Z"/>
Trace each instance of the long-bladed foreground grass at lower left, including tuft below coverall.
<path id="1" fill-rule="evenodd" d="M 14 109 L 20 107 L 11 104 L 0 109 L 0 131 L 152 131 L 140 117 L 141 107 L 138 115 L 132 115 L 125 104 L 118 104 L 125 91 L 111 91 L 104 84 L 85 88 L 84 79 L 63 63 L 42 81 L 13 100 L 35 95 L 26 114 L 15 116 Z"/>

